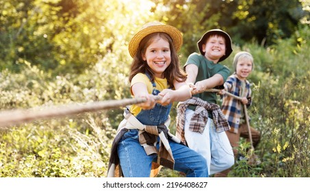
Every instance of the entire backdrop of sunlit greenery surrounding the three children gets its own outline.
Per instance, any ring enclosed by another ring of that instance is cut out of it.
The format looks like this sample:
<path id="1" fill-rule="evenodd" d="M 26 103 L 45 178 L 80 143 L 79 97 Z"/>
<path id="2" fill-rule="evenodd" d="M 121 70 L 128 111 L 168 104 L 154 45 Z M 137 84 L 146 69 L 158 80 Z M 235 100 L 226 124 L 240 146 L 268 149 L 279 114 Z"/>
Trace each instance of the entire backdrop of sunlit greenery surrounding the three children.
<path id="1" fill-rule="evenodd" d="M 255 21 L 245 25 L 248 17 L 242 18 L 247 9 L 263 8 L 250 4 L 254 1 L 130 2 L 0 1 L 1 109 L 130 98 L 127 46 L 142 24 L 160 20 L 180 29 L 181 63 L 196 50 L 206 29 L 223 27 L 234 39 L 233 54 L 225 65 L 232 68 L 239 50 L 248 50 L 255 58 L 249 115 L 251 125 L 262 134 L 255 149 L 261 164 L 253 167 L 238 161 L 229 176 L 310 177 L 309 25 L 294 25 L 289 36 L 282 36 L 286 21 L 274 25 L 266 33 L 273 44 L 260 46 L 260 40 L 242 36 L 253 37 L 259 31 L 244 30 L 258 25 Z M 293 9 L 299 6 L 294 5 Z M 272 23 L 278 23 L 280 13 L 266 11 Z M 115 108 L 0 127 L 0 177 L 103 177 L 122 118 L 122 108 Z M 170 130 L 175 133 L 173 120 Z M 245 157 L 247 149 L 242 142 L 240 153 Z M 183 174 L 163 168 L 159 176 Z"/>

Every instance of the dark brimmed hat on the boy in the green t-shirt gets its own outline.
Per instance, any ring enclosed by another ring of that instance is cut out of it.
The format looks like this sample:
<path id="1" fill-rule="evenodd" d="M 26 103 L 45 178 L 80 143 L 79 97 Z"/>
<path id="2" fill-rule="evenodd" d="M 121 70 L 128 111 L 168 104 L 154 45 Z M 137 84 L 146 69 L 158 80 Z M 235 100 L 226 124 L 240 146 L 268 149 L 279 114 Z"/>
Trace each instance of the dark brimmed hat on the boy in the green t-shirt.
<path id="1" fill-rule="evenodd" d="M 232 42 L 231 42 L 231 37 L 229 36 L 228 33 L 222 31 L 221 29 L 212 29 L 207 31 L 203 37 L 201 38 L 201 40 L 199 40 L 197 42 L 199 51 L 201 52 L 201 55 L 205 55 L 205 52 L 203 51 L 203 44 L 205 44 L 205 41 L 207 40 L 207 38 L 209 38 L 210 35 L 214 35 L 214 34 L 218 34 L 218 35 L 222 35 L 225 38 L 225 43 L 226 43 L 226 52 L 225 55 L 222 56 L 218 61 L 223 61 L 224 59 L 227 59 L 227 57 L 229 57 L 229 55 L 231 55 L 231 53 L 233 52 L 233 48 L 232 48 Z"/>

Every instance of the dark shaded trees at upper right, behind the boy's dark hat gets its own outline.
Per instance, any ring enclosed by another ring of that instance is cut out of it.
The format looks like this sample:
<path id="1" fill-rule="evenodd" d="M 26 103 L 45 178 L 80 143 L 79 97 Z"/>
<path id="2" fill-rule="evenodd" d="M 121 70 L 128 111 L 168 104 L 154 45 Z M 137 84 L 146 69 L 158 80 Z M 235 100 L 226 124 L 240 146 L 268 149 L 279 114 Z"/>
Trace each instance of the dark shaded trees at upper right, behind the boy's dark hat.
<path id="1" fill-rule="evenodd" d="M 233 0 L 233 1 L 166 1 L 157 0 L 155 10 L 164 5 L 163 20 L 184 33 L 184 54 L 198 50 L 196 42 L 205 31 L 220 28 L 227 31 L 235 44 L 255 41 L 264 46 L 294 34 L 304 18 L 309 22 L 309 2 L 294 0 Z M 279 6 L 281 5 L 281 6 Z M 169 16 L 166 16 L 166 15 Z M 176 19 L 178 18 L 178 19 Z M 188 19 L 190 18 L 190 19 Z M 193 32 L 194 31 L 194 32 Z"/>

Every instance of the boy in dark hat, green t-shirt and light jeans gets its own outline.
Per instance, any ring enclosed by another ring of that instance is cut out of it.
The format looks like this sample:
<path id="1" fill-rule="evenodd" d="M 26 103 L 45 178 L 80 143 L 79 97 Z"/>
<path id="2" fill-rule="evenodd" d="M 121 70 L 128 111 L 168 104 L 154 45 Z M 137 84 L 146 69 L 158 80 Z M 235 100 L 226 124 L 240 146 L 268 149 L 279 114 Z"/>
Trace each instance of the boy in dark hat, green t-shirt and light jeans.
<path id="1" fill-rule="evenodd" d="M 205 90 L 224 84 L 230 71 L 219 62 L 233 50 L 229 34 L 220 29 L 207 31 L 197 44 L 201 54 L 192 53 L 184 65 L 193 96 L 179 102 L 177 136 L 205 157 L 212 175 L 230 168 L 235 160 L 225 133 L 229 123 L 216 104 L 216 93 Z"/>

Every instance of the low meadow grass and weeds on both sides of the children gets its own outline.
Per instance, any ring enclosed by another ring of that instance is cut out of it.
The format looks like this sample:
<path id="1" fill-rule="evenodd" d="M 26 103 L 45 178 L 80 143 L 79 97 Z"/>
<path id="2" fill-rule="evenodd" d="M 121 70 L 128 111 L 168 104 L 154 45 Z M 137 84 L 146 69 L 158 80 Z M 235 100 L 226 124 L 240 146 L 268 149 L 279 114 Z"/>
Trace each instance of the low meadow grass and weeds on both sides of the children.
<path id="1" fill-rule="evenodd" d="M 261 131 L 261 164 L 237 161 L 230 177 L 310 177 L 309 27 L 262 48 L 235 47 L 255 57 L 251 125 Z M 123 50 L 125 50 L 124 48 Z M 233 55 L 225 61 L 231 68 Z M 121 62 L 120 62 L 121 61 Z M 23 60 L 23 74 L 0 73 L 0 106 L 35 108 L 130 98 L 130 59 L 109 53 L 82 74 L 44 72 Z M 176 110 L 172 109 L 175 132 Z M 0 127 L 0 177 L 104 177 L 122 108 Z M 240 152 L 248 145 L 242 142 Z M 160 177 L 183 175 L 163 168 Z"/>

